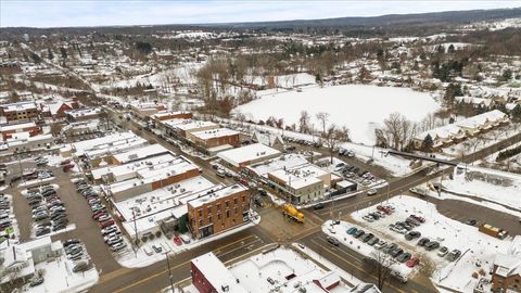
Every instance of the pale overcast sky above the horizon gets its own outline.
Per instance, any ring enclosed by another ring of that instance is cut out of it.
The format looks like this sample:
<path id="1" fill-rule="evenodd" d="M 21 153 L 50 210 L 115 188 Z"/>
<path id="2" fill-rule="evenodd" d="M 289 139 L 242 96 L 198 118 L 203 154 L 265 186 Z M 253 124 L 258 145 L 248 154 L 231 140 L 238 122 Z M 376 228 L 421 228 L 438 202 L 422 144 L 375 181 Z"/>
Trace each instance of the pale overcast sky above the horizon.
<path id="1" fill-rule="evenodd" d="M 0 27 L 202 24 L 521 7 L 521 1 L 0 0 Z"/>

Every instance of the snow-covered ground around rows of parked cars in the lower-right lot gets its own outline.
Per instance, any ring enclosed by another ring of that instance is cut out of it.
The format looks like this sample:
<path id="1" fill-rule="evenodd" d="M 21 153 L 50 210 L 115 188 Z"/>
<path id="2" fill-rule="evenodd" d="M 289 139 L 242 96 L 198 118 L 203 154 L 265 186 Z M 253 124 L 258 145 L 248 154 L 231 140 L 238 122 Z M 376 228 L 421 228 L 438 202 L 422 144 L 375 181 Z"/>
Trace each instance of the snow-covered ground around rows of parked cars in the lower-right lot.
<path id="1" fill-rule="evenodd" d="M 376 211 L 374 206 L 357 211 L 352 214 L 353 219 L 364 226 L 364 230 L 370 230 L 380 238 L 390 242 L 396 242 L 411 254 L 421 254 L 423 257 L 429 257 L 436 266 L 431 279 L 434 283 L 449 288 L 460 292 L 472 292 L 478 279 L 472 278 L 472 273 L 480 270 L 488 272 L 494 263 L 495 256 L 498 253 L 512 253 L 512 251 L 521 251 L 521 247 L 516 247 L 516 242 L 511 238 L 499 240 L 490 237 L 478 230 L 476 227 L 468 226 L 457 220 L 453 220 L 440 214 L 435 205 L 425 201 L 399 195 L 389 200 L 387 204 L 396 208 L 395 213 L 386 216 L 383 219 L 373 222 L 367 222 L 361 217 L 368 212 Z M 403 234 L 389 230 L 389 225 L 396 221 L 403 221 L 410 214 L 422 216 L 427 221 L 417 228 L 416 231 L 421 232 L 421 237 L 428 237 L 440 241 L 441 246 L 447 246 L 449 251 L 460 250 L 462 257 L 454 263 L 448 262 L 436 255 L 437 250 L 427 252 L 422 247 L 415 245 L 416 240 L 406 241 Z M 348 224 L 345 224 L 348 226 Z M 338 233 L 345 234 L 345 227 L 339 229 Z M 328 233 L 328 229 L 325 229 Z M 347 238 L 350 241 L 355 241 L 353 238 Z M 361 245 L 361 247 L 364 247 Z M 371 247 L 372 249 L 372 247 Z M 357 249 L 360 253 L 367 255 L 368 250 Z M 521 253 L 521 252 L 520 252 Z"/>

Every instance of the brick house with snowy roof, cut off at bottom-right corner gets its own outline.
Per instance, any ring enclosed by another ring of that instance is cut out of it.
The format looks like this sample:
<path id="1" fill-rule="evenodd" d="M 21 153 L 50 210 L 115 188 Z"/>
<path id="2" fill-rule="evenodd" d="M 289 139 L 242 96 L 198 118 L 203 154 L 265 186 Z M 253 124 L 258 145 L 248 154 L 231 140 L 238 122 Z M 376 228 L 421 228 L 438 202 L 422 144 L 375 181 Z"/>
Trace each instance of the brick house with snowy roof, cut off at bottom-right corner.
<path id="1" fill-rule="evenodd" d="M 521 257 L 519 255 L 496 255 L 492 270 L 492 291 L 521 291 Z"/>

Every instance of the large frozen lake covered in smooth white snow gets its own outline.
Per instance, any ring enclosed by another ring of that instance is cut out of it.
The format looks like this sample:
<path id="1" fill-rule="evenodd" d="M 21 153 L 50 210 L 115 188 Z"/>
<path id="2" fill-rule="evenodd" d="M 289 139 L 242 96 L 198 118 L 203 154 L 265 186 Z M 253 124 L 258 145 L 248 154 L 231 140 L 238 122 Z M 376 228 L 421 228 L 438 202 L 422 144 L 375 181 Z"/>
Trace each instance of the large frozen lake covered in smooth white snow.
<path id="1" fill-rule="evenodd" d="M 307 111 L 315 129 L 320 126 L 315 115 L 326 112 L 330 114 L 329 124 L 350 128 L 354 142 L 373 144 L 374 128 L 389 114 L 399 112 L 411 120 L 421 120 L 437 109 L 437 103 L 428 93 L 405 88 L 346 85 L 274 93 L 236 111 L 256 120 L 266 120 L 269 116 L 283 118 L 285 125 L 298 125 L 301 112 Z"/>

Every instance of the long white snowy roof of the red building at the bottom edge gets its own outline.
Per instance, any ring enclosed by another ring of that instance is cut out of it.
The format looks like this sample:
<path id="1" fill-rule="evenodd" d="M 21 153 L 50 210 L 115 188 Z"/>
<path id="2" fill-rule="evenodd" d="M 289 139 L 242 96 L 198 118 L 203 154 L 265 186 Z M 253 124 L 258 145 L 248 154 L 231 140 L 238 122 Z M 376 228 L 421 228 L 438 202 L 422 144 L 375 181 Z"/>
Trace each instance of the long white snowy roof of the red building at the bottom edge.
<path id="1" fill-rule="evenodd" d="M 237 283 L 236 277 L 213 252 L 193 258 L 192 264 L 215 288 L 217 293 L 247 293 L 242 285 Z"/>

